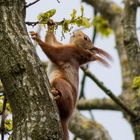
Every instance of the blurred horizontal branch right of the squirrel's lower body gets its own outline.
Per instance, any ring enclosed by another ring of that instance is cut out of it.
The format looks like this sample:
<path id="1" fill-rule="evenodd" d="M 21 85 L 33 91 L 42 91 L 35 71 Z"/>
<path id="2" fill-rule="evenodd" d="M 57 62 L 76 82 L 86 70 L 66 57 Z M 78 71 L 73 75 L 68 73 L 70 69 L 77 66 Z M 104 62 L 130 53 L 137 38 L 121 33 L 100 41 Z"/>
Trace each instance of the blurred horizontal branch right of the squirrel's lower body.
<path id="1" fill-rule="evenodd" d="M 120 107 L 113 102 L 111 99 L 81 99 L 77 103 L 77 108 L 79 110 L 95 110 L 95 109 L 101 109 L 101 110 L 115 110 L 120 111 Z"/>

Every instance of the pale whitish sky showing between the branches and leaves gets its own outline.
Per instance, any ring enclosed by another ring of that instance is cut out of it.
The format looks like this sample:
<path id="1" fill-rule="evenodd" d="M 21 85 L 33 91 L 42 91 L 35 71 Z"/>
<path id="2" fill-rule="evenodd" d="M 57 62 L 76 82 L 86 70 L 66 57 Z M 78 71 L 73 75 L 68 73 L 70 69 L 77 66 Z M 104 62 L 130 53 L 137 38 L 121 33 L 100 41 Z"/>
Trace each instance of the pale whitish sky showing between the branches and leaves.
<path id="1" fill-rule="evenodd" d="M 121 0 L 113 0 L 118 3 L 120 6 L 123 6 Z M 27 0 L 27 2 L 32 2 L 32 0 Z M 92 18 L 93 9 L 91 6 L 82 3 L 85 8 L 85 16 L 88 18 Z M 36 21 L 37 15 L 39 13 L 43 13 L 50 9 L 56 9 L 56 15 L 53 17 L 56 21 L 61 21 L 64 17 L 69 18 L 72 13 L 72 9 L 76 9 L 78 13 L 80 13 L 80 0 L 60 0 L 60 3 L 57 0 L 40 0 L 36 5 L 31 6 L 27 9 L 26 21 Z M 138 17 L 137 21 L 140 21 Z M 139 27 L 139 23 L 137 23 Z M 36 31 L 37 28 L 28 27 L 28 31 Z M 46 30 L 46 29 L 45 29 Z M 41 37 L 44 37 L 45 30 L 41 32 Z M 92 28 L 84 30 L 84 32 L 92 37 Z M 60 40 L 61 38 L 61 30 L 57 30 L 57 38 Z M 63 40 L 64 43 L 69 42 L 69 34 L 66 34 L 66 39 Z M 140 32 L 138 31 L 138 36 L 140 38 Z M 94 73 L 101 81 L 105 83 L 105 85 L 111 89 L 115 95 L 119 95 L 121 93 L 121 70 L 119 66 L 119 59 L 117 55 L 117 51 L 115 49 L 115 38 L 114 35 L 110 35 L 108 38 L 102 37 L 101 35 L 97 36 L 95 41 L 95 46 L 100 47 L 106 50 L 113 57 L 113 62 L 111 63 L 110 68 L 105 68 L 104 66 L 98 63 L 91 63 L 90 70 Z M 47 60 L 47 57 L 41 51 L 39 47 L 37 47 L 37 52 L 41 60 Z M 80 71 L 80 76 L 82 72 Z M 86 97 L 88 99 L 93 98 L 104 98 L 107 97 L 104 92 L 99 89 L 93 81 L 87 78 L 87 83 L 85 87 Z M 91 93 L 93 91 L 93 93 Z M 108 97 L 107 97 L 108 98 Z M 118 111 L 92 111 L 99 123 L 101 123 L 111 135 L 113 140 L 134 140 L 134 135 L 132 133 L 131 126 L 128 122 L 123 118 L 121 112 Z M 82 112 L 85 116 L 90 117 L 88 113 Z"/>

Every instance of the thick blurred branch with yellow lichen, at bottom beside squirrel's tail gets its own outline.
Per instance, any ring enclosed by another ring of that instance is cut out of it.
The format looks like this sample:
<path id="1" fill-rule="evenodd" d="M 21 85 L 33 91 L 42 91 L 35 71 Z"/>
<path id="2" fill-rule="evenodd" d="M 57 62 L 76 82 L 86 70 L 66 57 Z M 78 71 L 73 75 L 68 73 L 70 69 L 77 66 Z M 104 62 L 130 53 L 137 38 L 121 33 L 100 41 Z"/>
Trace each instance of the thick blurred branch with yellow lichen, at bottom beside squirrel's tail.
<path id="1" fill-rule="evenodd" d="M 111 140 L 110 135 L 101 124 L 87 119 L 78 111 L 72 115 L 69 129 L 82 140 Z"/>

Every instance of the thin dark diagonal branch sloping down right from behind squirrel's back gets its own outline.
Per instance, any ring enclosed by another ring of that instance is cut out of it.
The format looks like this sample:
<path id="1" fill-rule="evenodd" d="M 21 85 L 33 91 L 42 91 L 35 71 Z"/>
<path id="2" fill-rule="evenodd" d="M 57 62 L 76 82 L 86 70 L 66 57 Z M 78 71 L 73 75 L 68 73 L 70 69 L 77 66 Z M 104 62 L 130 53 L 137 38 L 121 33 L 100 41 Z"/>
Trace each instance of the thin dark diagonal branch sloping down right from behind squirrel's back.
<path id="1" fill-rule="evenodd" d="M 117 98 L 113 92 L 104 86 L 103 82 L 99 81 L 87 68 L 81 67 L 85 74 L 91 78 L 116 104 L 118 104 L 128 115 L 133 119 L 138 120 L 138 115 L 126 104 L 124 104 L 119 98 Z"/>

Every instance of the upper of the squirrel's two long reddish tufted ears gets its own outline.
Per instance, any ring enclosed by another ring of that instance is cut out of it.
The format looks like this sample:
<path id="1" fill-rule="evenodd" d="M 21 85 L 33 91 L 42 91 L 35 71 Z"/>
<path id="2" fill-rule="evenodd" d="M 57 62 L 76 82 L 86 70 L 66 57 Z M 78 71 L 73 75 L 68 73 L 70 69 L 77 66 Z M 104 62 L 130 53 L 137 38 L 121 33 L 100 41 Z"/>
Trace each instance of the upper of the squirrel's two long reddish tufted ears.
<path id="1" fill-rule="evenodd" d="M 104 56 L 107 59 L 113 61 L 112 56 L 109 53 L 107 53 L 106 51 L 104 51 L 100 48 L 97 48 L 97 47 L 93 46 L 92 48 L 90 48 L 90 51 L 93 52 L 94 54 L 99 54 L 99 55 Z"/>

